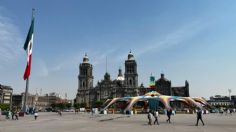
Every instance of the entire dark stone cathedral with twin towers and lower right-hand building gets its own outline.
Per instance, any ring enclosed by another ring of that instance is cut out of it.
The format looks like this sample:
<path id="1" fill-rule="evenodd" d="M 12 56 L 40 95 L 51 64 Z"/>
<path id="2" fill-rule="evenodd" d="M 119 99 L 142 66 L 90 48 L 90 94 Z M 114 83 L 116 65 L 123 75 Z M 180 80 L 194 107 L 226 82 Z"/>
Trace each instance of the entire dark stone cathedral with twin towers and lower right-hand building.
<path id="1" fill-rule="evenodd" d="M 163 95 L 189 96 L 189 85 L 186 81 L 183 87 L 171 87 L 171 82 L 164 78 L 164 74 L 161 74 L 161 78 L 155 82 L 154 88 L 144 87 L 143 84 L 139 86 L 137 63 L 131 51 L 125 60 L 124 75 L 122 69 L 119 69 L 117 78 L 111 80 L 110 74 L 106 72 L 103 80 L 98 81 L 95 87 L 93 86 L 93 66 L 90 64 L 87 54 L 79 65 L 76 103 L 84 103 L 86 107 L 93 107 L 96 101 L 144 95 L 150 91 L 157 91 Z"/>

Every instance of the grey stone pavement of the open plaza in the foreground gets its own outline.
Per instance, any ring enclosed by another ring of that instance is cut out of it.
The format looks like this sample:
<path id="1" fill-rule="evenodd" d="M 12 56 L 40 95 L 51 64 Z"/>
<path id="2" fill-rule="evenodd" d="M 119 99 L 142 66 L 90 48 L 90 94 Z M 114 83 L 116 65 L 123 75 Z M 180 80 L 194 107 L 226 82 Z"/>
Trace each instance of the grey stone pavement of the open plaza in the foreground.
<path id="1" fill-rule="evenodd" d="M 91 115 L 86 113 L 39 113 L 37 120 L 33 115 L 19 120 L 0 119 L 0 132 L 236 132 L 236 114 L 203 115 L 205 126 L 199 122 L 195 126 L 196 115 L 177 114 L 172 123 L 166 123 L 166 116 L 159 118 L 160 125 L 147 125 L 147 115 Z"/>

